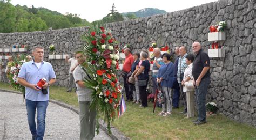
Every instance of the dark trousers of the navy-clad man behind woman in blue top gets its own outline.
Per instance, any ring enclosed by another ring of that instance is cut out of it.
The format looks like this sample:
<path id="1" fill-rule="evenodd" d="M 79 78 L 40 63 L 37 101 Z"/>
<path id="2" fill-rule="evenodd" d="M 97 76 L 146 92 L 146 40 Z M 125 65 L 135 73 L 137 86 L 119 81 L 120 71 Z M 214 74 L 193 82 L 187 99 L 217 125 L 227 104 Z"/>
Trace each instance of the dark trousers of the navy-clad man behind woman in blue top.
<path id="1" fill-rule="evenodd" d="M 173 77 L 173 84 L 172 84 L 172 89 L 173 89 L 173 96 L 172 96 L 172 106 L 173 107 L 179 107 L 179 83 L 177 81 L 177 77 Z"/>

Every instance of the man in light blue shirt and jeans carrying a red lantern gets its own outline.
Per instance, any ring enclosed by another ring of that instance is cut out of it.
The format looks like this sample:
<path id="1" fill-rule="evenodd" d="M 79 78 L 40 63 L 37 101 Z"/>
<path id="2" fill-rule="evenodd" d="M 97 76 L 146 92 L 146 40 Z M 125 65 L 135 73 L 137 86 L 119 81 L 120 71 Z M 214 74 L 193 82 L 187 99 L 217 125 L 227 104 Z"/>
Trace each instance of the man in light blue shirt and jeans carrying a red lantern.
<path id="1" fill-rule="evenodd" d="M 43 94 L 37 89 L 37 82 L 45 78 L 46 83 L 42 86 L 49 93 L 49 86 L 56 82 L 56 75 L 52 65 L 43 61 L 44 49 L 41 46 L 33 47 L 34 59 L 22 65 L 18 74 L 18 83 L 25 86 L 26 110 L 28 115 L 29 129 L 32 139 L 43 139 L 45 131 L 45 115 L 49 101 L 49 94 Z M 37 125 L 35 114 L 37 110 Z M 37 128 L 36 128 L 37 126 Z"/>

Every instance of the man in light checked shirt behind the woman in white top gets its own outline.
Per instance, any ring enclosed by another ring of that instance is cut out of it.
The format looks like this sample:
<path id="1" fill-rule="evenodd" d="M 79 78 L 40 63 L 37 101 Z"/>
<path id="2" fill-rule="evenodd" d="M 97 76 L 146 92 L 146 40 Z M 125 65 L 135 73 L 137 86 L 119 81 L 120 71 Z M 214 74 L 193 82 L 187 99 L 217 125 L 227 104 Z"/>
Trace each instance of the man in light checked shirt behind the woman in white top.
<path id="1" fill-rule="evenodd" d="M 187 56 L 187 50 L 184 46 L 181 46 L 179 48 L 179 61 L 178 61 L 178 71 L 177 71 L 177 80 L 179 83 L 179 88 L 181 90 L 181 95 L 183 96 L 183 100 L 184 100 L 184 111 L 182 113 L 184 113 L 184 115 L 186 115 L 187 113 L 187 102 L 186 102 L 186 93 L 183 92 L 183 85 L 181 85 L 181 82 L 183 80 L 183 76 L 184 76 L 184 71 L 187 68 L 187 64 L 186 64 L 186 56 Z"/>

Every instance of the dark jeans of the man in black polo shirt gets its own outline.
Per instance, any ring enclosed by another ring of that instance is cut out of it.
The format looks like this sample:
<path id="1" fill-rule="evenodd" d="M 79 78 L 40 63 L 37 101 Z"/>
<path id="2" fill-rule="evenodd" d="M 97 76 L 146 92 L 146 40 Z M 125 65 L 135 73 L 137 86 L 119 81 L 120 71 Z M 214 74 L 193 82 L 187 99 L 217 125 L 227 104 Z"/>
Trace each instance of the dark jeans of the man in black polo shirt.
<path id="1" fill-rule="evenodd" d="M 207 88 L 210 82 L 211 82 L 210 77 L 202 79 L 199 86 L 196 87 L 196 98 L 197 98 L 199 121 L 203 121 L 206 119 L 205 98 L 207 94 Z"/>

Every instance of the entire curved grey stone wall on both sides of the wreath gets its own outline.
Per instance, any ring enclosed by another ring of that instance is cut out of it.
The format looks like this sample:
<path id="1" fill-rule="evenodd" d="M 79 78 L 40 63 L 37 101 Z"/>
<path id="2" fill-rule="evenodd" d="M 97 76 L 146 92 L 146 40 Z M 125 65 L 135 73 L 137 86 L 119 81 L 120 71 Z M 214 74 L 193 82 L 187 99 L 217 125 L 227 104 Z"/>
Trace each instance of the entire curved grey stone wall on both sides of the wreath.
<path id="1" fill-rule="evenodd" d="M 107 24 L 113 36 L 122 44 L 130 43 L 133 51 L 147 49 L 151 41 L 158 46 L 165 43 L 173 49 L 185 46 L 192 53 L 192 43 L 199 41 L 204 51 L 210 48 L 208 27 L 217 21 L 227 21 L 224 58 L 211 58 L 211 84 L 207 102 L 218 104 L 220 113 L 233 120 L 256 126 L 256 24 L 255 1 L 228 0 L 208 3 L 193 8 Z M 82 47 L 80 36 L 86 27 L 31 33 L 0 34 L 0 46 L 14 43 L 29 46 L 56 45 L 57 54 L 71 54 Z M 48 60 L 49 49 L 45 50 Z M 31 52 L 31 49 L 29 50 Z M 68 64 L 64 60 L 49 60 L 57 74 L 56 85 L 66 86 Z M 3 76 L 2 76 L 3 77 Z M 3 81 L 3 79 L 2 79 Z"/>

